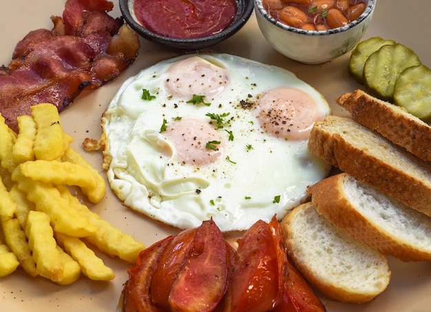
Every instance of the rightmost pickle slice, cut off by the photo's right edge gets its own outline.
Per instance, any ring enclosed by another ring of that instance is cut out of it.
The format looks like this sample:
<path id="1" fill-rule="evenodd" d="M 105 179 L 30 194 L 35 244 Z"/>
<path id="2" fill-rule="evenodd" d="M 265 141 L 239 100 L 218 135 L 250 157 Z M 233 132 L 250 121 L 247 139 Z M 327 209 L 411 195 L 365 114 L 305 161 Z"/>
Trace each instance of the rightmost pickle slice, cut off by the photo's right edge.
<path id="1" fill-rule="evenodd" d="M 395 82 L 395 104 L 410 114 L 431 122 L 431 70 L 425 65 L 408 67 Z"/>

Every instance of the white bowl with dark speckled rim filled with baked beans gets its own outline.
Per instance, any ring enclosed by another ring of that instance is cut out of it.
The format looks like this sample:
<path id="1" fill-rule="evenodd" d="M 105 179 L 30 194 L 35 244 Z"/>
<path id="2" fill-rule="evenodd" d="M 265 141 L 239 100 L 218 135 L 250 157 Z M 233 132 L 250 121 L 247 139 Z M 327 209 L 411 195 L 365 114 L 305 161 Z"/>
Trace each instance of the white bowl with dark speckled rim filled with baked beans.
<path id="1" fill-rule="evenodd" d="M 254 0 L 266 40 L 290 59 L 325 63 L 361 40 L 377 0 Z"/>

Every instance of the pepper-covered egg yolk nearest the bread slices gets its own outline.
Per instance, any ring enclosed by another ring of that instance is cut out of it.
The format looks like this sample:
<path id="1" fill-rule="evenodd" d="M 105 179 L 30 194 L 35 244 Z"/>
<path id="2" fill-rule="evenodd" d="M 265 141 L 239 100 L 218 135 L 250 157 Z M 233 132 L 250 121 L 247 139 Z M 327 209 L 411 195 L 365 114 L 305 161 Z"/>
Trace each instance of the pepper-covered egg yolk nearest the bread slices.
<path id="1" fill-rule="evenodd" d="M 256 104 L 257 119 L 264 131 L 288 140 L 306 140 L 315 121 L 324 116 L 311 96 L 288 87 L 265 92 Z"/>

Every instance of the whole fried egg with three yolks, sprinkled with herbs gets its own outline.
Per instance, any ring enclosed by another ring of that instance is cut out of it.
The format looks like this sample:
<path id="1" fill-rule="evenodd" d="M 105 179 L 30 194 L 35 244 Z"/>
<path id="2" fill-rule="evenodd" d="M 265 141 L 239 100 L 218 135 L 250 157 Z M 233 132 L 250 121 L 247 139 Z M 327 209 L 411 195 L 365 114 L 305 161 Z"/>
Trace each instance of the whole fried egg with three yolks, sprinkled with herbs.
<path id="1" fill-rule="evenodd" d="M 229 54 L 161 61 L 103 114 L 107 178 L 125 206 L 168 225 L 248 229 L 328 175 L 307 148 L 326 114 L 322 94 L 280 67 Z"/>

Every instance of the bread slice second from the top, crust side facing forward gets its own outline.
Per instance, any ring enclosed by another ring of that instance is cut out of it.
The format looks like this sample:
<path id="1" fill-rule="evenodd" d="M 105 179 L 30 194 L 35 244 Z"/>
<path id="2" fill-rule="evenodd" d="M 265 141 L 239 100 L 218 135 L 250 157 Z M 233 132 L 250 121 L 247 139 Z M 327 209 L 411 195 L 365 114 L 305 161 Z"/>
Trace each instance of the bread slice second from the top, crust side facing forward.
<path id="1" fill-rule="evenodd" d="M 326 116 L 308 149 L 341 171 L 431 216 L 431 166 L 348 117 Z"/>

